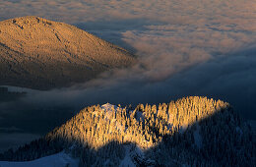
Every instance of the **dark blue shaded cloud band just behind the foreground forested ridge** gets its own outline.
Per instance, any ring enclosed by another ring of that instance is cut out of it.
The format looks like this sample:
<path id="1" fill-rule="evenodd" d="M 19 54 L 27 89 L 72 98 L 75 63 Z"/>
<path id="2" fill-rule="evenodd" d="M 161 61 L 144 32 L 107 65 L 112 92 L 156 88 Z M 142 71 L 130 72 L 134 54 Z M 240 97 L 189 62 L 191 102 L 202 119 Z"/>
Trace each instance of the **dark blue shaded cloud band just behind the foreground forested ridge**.
<path id="1" fill-rule="evenodd" d="M 22 103 L 29 105 L 38 101 L 35 106 L 49 103 L 56 106 L 86 106 L 105 102 L 136 105 L 168 102 L 187 95 L 207 95 L 230 102 L 244 112 L 244 116 L 252 118 L 256 109 L 252 105 L 256 102 L 253 98 L 256 95 L 255 53 L 256 47 L 232 52 L 160 82 L 140 79 L 140 75 L 132 76 L 138 72 L 134 69 L 105 73 L 99 79 L 72 88 L 31 93 L 22 99 Z"/>

